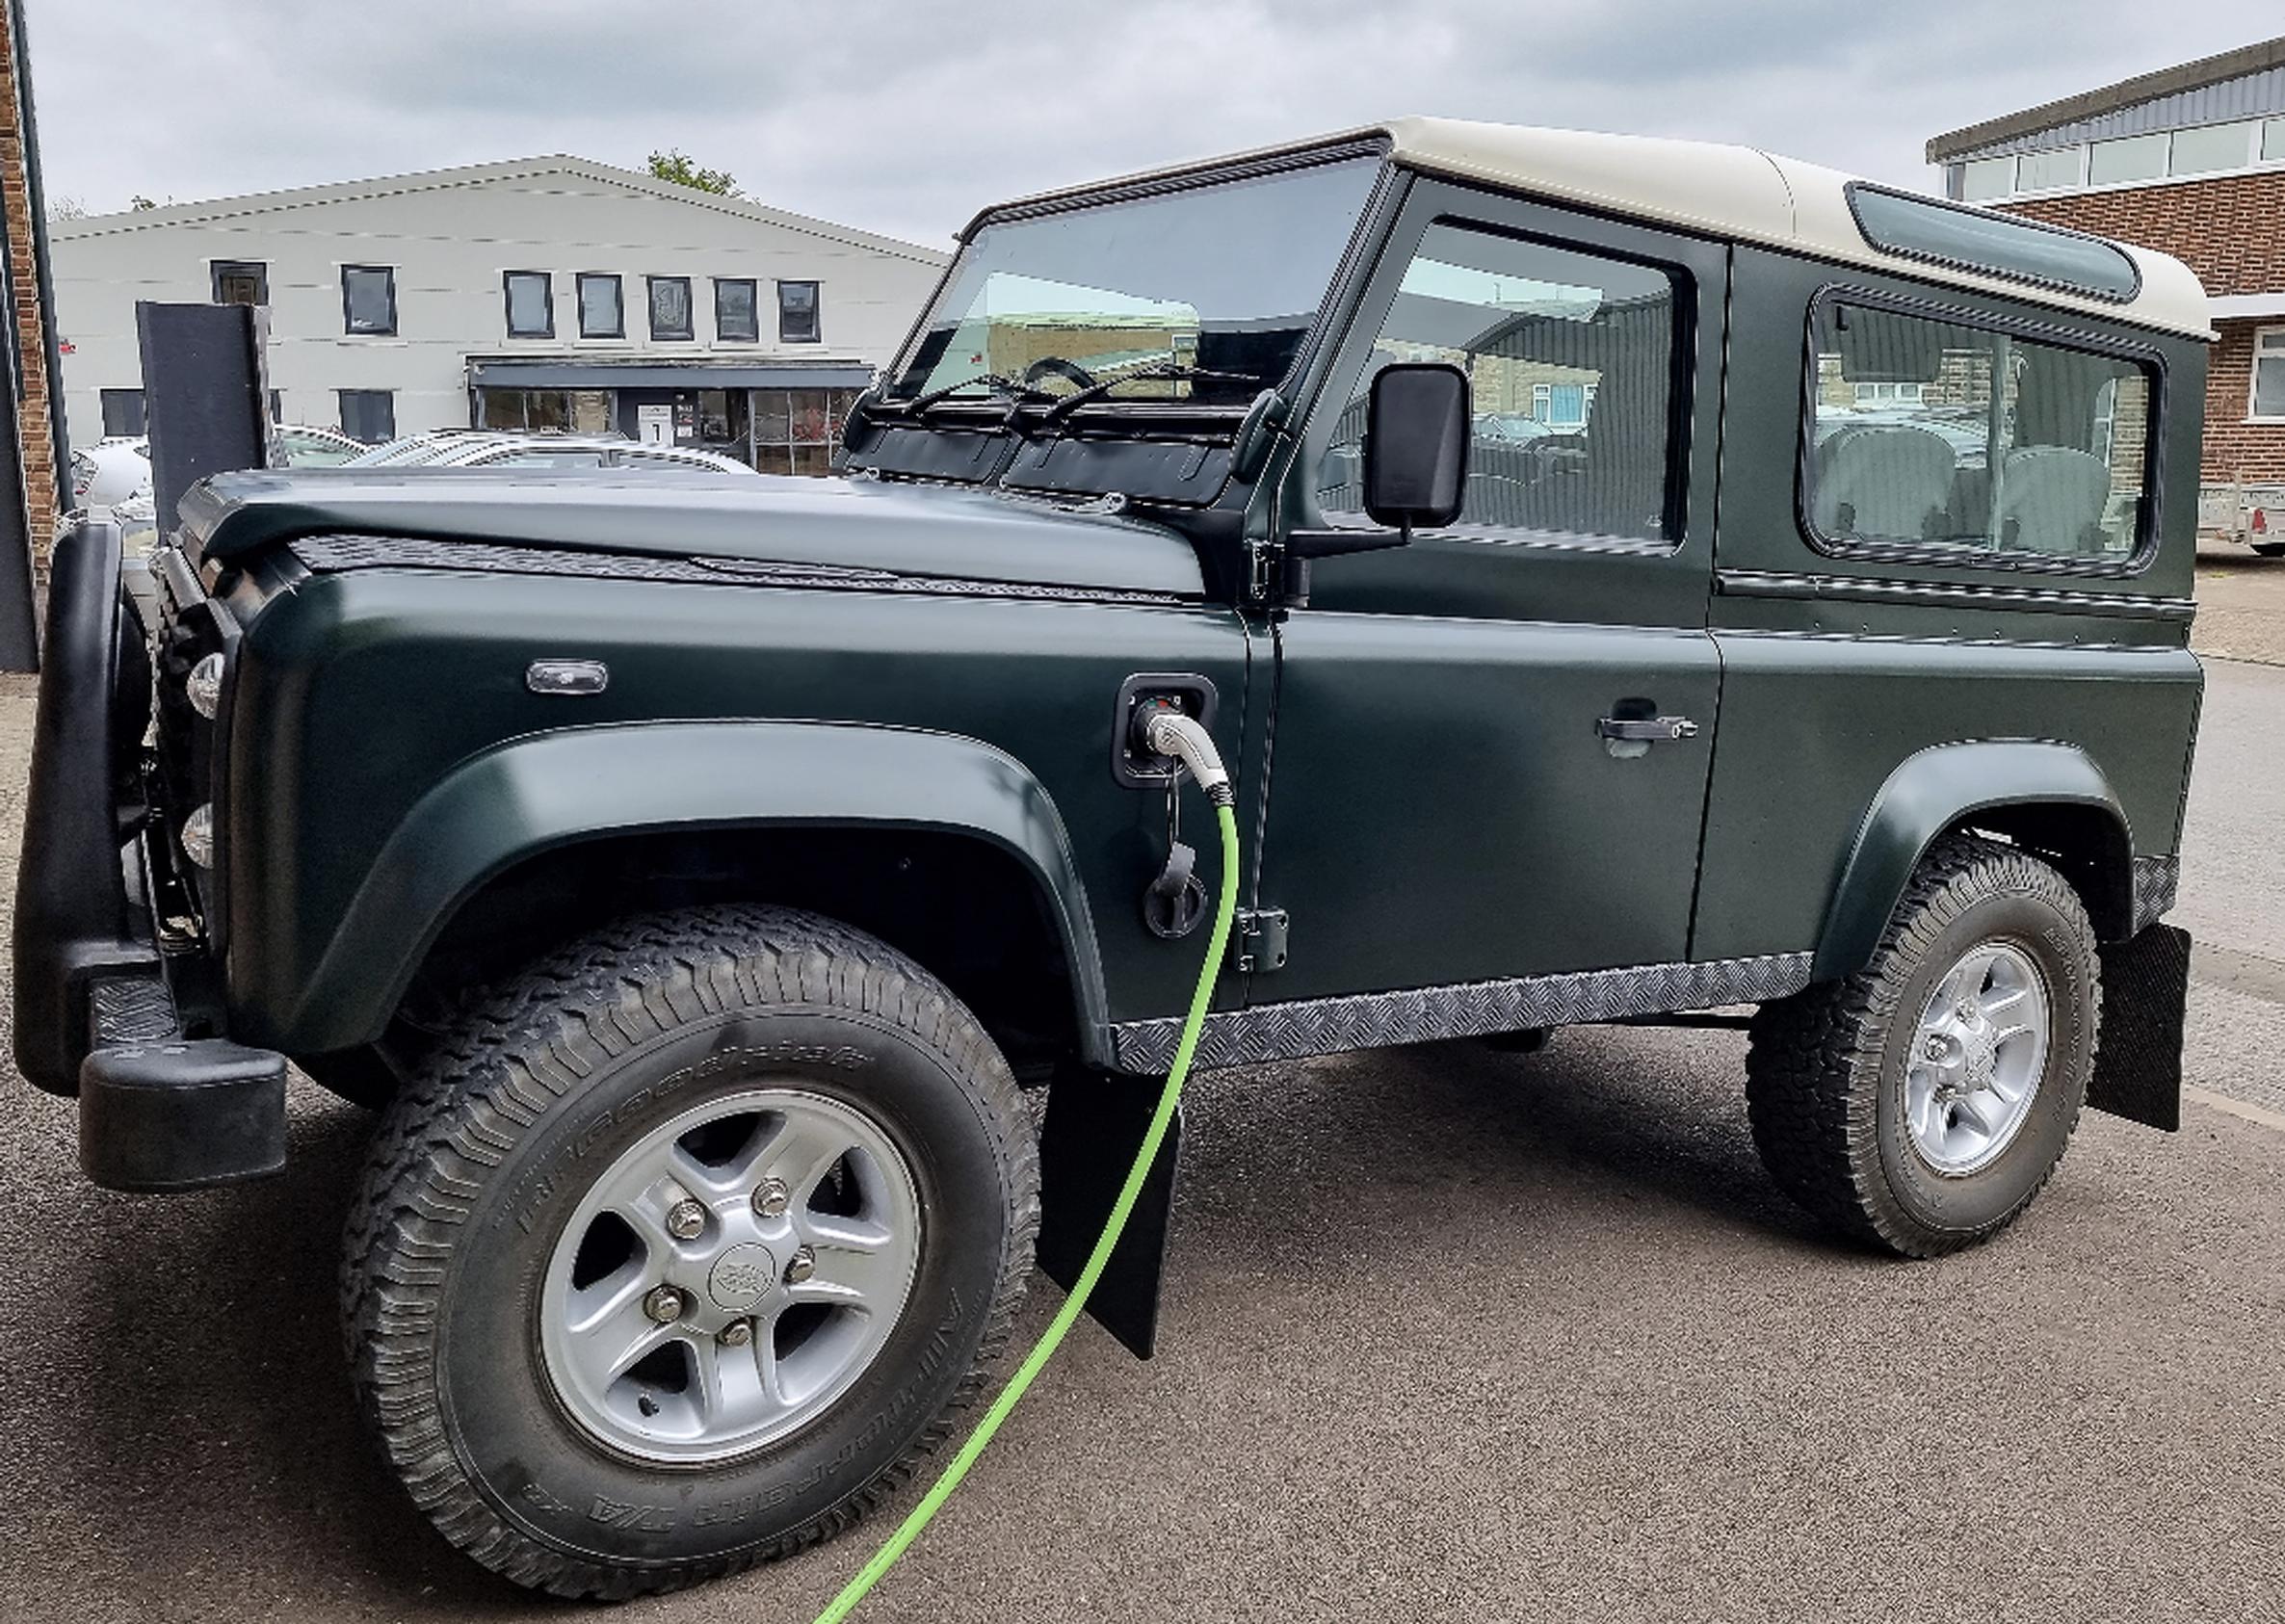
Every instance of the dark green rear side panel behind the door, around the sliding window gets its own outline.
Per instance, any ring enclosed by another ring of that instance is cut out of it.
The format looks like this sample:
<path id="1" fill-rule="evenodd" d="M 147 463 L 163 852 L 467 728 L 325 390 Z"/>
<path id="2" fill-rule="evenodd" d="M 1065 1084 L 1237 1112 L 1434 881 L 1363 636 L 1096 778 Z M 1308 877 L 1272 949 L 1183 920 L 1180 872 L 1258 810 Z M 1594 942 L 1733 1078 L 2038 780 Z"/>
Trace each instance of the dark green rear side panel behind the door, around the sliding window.
<path id="1" fill-rule="evenodd" d="M 1807 320 L 1833 286 L 1963 308 L 1958 290 L 1906 276 L 1764 249 L 1737 254 L 1711 601 L 1723 719 L 1693 959 L 1810 948 L 1828 918 L 1858 907 L 1885 923 L 1894 895 L 1887 905 L 1844 902 L 1839 889 L 1871 820 L 1899 815 L 1906 802 L 1915 811 L 1899 827 L 1917 831 L 1979 806 L 2041 797 L 2086 804 L 2093 793 L 2084 774 L 2054 770 L 2063 758 L 2054 751 L 1933 747 L 2070 747 L 2107 786 L 2134 857 L 2171 854 L 2180 838 L 2203 692 L 2187 649 L 2200 345 L 2011 299 L 1974 302 L 1974 311 L 2038 322 L 2052 343 L 2070 343 L 2075 331 L 2088 343 L 2132 343 L 2157 368 L 2148 452 L 2155 546 L 2130 566 L 2029 566 L 1974 548 L 1919 557 L 1819 548 L 1801 521 Z M 1874 811 L 1910 761 L 1924 763 L 1915 774 L 1931 777 L 1910 777 L 1887 813 Z M 1938 811 L 1947 797 L 1956 804 Z M 1910 843 L 1917 834 L 1878 838 Z M 1819 971 L 1830 973 L 1842 957 L 1828 948 Z"/>

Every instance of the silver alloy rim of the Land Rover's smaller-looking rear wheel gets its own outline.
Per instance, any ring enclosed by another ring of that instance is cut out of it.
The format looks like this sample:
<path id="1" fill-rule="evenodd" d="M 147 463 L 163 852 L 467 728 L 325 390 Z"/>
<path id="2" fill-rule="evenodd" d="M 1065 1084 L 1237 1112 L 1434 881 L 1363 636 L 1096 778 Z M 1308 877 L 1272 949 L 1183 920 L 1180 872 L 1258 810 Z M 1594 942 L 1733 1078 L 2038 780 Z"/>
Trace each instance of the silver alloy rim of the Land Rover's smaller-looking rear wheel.
<path id="1" fill-rule="evenodd" d="M 1965 1176 L 2015 1140 L 2047 1069 L 2052 1007 L 2038 964 L 2006 941 L 1938 978 L 1903 1078 L 1906 1131 L 1929 1167 Z"/>

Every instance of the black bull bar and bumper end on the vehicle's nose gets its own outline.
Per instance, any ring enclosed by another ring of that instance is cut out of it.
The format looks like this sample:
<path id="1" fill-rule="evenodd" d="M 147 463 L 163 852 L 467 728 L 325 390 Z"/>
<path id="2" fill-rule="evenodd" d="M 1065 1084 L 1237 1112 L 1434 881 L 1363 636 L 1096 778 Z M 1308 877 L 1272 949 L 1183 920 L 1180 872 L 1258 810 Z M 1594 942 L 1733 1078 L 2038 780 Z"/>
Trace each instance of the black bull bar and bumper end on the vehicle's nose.
<path id="1" fill-rule="evenodd" d="M 151 662 L 121 594 L 119 530 L 55 544 L 32 793 L 16 875 L 16 1064 L 80 1096 L 80 1167 L 190 1190 L 286 1165 L 286 1058 L 222 1035 L 203 939 L 160 941 L 171 859 L 153 838 Z"/>

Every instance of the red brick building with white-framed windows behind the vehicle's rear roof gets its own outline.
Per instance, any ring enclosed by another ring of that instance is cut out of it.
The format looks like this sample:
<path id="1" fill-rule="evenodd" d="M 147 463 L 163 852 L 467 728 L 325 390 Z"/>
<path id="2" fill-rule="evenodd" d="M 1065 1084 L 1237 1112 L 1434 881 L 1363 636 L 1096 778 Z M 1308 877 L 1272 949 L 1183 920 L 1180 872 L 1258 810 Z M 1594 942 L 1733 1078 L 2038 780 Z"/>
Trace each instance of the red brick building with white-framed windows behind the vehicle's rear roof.
<path id="1" fill-rule="evenodd" d="M 1947 196 L 2198 272 L 2205 480 L 2285 484 L 2285 37 L 1938 135 L 1929 162 Z"/>

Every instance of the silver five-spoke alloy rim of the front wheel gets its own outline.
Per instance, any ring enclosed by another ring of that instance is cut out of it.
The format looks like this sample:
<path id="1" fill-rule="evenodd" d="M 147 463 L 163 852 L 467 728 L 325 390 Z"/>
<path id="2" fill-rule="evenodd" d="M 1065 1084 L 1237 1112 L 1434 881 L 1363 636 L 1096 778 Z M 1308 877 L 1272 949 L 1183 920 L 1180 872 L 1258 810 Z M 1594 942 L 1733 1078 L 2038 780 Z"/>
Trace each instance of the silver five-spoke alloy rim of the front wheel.
<path id="1" fill-rule="evenodd" d="M 747 1090 L 665 1121 L 590 1185 L 548 1256 L 542 1361 L 603 1444 L 722 1460 L 788 1437 L 864 1375 L 919 1256 L 919 1185 L 871 1117 Z"/>

